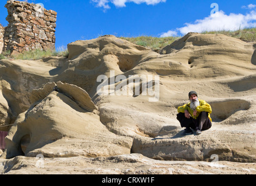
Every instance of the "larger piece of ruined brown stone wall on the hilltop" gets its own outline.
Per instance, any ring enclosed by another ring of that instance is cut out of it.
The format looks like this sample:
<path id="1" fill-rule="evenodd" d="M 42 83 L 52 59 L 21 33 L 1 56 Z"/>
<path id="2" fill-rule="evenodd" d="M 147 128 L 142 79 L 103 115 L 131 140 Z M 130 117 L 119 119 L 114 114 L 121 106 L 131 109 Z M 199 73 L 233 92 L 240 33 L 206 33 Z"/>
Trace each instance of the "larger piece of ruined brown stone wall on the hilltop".
<path id="1" fill-rule="evenodd" d="M 41 4 L 13 0 L 7 1 L 5 8 L 8 10 L 6 20 L 9 24 L 5 27 L 3 51 L 15 55 L 35 49 L 55 50 L 55 11 L 46 10 Z"/>

